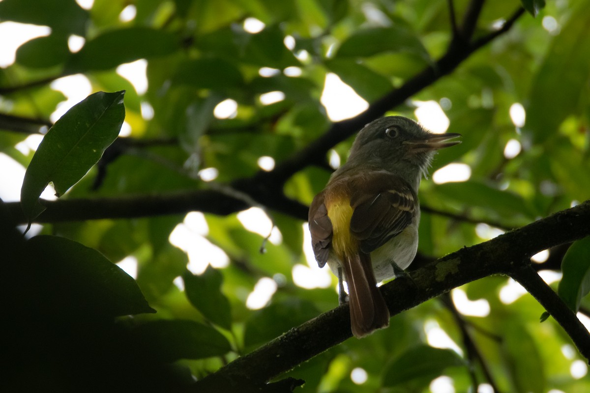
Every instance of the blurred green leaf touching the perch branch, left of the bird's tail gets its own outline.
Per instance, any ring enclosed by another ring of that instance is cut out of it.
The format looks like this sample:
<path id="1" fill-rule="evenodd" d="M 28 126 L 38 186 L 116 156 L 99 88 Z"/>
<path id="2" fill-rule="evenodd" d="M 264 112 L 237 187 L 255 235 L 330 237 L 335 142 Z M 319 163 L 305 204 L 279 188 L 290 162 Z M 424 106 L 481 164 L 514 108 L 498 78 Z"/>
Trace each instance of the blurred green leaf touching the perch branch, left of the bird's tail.
<path id="1" fill-rule="evenodd" d="M 289 299 L 258 310 L 246 322 L 244 345 L 254 346 L 276 338 L 319 314 L 314 303 Z"/>

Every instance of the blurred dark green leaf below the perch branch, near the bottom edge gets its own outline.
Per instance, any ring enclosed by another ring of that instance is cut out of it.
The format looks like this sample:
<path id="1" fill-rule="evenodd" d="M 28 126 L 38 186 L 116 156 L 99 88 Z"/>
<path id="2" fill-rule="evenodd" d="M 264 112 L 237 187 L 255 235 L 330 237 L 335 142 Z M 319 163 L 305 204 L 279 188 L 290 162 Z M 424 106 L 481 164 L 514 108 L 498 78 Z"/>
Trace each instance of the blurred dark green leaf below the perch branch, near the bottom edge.
<path id="1" fill-rule="evenodd" d="M 465 362 L 451 349 L 432 348 L 419 345 L 408 349 L 387 366 L 383 386 L 394 387 L 408 382 L 428 385 L 432 379 L 452 366 L 463 366 Z"/>

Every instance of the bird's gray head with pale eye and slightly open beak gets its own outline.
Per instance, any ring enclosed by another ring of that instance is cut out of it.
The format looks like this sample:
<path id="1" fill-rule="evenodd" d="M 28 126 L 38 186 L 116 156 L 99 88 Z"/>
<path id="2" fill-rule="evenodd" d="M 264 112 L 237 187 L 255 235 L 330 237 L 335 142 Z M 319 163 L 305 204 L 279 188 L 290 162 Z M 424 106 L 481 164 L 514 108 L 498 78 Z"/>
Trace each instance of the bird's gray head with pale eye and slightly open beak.
<path id="1" fill-rule="evenodd" d="M 436 150 L 461 143 L 450 141 L 456 137 L 460 134 L 433 134 L 401 116 L 378 118 L 356 136 L 347 165 L 404 170 L 419 176 L 430 166 Z"/>

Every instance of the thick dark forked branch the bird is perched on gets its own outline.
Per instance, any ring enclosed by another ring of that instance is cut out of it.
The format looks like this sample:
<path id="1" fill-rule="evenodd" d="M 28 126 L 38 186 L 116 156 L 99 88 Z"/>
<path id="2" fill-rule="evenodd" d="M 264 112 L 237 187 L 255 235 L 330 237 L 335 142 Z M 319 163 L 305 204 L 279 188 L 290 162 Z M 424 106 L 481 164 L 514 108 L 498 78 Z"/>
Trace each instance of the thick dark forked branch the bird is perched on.
<path id="1" fill-rule="evenodd" d="M 555 292 L 544 283 L 541 285 L 542 280 L 528 262 L 528 257 L 540 250 L 590 235 L 589 221 L 590 200 L 428 263 L 411 273 L 412 280 L 396 279 L 381 287 L 389 312 L 396 315 L 480 278 L 510 275 L 530 288 L 571 336 L 581 354 L 590 358 L 590 335 Z M 351 336 L 349 308 L 341 305 L 236 359 L 196 382 L 191 391 L 218 392 L 241 384 L 263 385 Z"/>

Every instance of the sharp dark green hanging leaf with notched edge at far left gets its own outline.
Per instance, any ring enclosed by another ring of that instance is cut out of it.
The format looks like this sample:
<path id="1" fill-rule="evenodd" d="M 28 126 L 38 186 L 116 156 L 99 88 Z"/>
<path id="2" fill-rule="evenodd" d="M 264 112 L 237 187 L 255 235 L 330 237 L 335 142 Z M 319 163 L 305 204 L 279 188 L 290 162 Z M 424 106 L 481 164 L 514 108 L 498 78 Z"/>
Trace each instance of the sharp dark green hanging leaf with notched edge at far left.
<path id="1" fill-rule="evenodd" d="M 29 221 L 44 206 L 39 196 L 53 181 L 61 196 L 100 160 L 117 138 L 125 117 L 124 91 L 94 93 L 74 105 L 45 135 L 25 173 L 22 209 Z"/>

